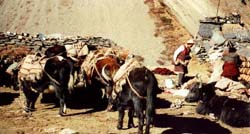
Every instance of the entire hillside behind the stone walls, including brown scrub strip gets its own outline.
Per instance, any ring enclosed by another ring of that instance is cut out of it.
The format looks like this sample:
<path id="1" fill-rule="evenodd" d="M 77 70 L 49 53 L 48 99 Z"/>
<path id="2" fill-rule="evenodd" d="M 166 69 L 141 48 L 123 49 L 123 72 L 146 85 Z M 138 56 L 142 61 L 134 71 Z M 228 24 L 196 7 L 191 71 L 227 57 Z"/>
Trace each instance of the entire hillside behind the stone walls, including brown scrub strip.
<path id="1" fill-rule="evenodd" d="M 100 36 L 142 55 L 147 65 L 166 65 L 196 34 L 199 19 L 216 15 L 218 1 L 0 0 L 0 31 Z M 220 0 L 218 15 L 237 11 L 248 26 L 246 2 Z"/>

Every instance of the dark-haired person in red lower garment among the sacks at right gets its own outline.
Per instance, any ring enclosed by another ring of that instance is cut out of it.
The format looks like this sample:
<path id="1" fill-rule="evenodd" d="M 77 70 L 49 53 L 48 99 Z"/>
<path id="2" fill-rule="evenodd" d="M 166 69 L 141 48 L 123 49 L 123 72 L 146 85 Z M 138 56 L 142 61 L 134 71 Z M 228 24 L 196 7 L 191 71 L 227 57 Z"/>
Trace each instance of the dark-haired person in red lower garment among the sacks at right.
<path id="1" fill-rule="evenodd" d="M 221 76 L 237 81 L 239 77 L 240 56 L 236 53 L 236 48 L 229 47 L 223 53 L 224 61 Z"/>

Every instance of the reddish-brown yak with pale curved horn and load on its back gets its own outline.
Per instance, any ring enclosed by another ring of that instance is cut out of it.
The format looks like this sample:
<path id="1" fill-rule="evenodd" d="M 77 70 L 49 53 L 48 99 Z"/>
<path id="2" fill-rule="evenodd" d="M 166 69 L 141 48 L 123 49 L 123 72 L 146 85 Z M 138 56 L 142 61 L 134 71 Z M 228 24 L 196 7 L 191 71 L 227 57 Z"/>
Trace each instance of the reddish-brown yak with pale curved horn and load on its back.
<path id="1" fill-rule="evenodd" d="M 112 87 L 112 77 L 123 63 L 122 60 L 113 48 L 91 51 L 83 61 L 80 71 L 82 77 L 86 78 L 86 87 L 104 89 L 104 97 Z"/>

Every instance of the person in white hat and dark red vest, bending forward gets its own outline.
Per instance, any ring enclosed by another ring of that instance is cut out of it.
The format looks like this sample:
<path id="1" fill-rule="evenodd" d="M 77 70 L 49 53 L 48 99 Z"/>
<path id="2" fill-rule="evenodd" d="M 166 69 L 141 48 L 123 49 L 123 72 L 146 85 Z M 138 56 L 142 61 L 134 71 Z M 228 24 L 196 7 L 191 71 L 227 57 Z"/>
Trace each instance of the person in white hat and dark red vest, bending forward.
<path id="1" fill-rule="evenodd" d="M 177 87 L 181 87 L 184 82 L 185 74 L 188 73 L 188 63 L 191 59 L 190 49 L 194 45 L 194 40 L 189 39 L 185 44 L 179 46 L 173 56 L 174 72 L 178 76 Z"/>

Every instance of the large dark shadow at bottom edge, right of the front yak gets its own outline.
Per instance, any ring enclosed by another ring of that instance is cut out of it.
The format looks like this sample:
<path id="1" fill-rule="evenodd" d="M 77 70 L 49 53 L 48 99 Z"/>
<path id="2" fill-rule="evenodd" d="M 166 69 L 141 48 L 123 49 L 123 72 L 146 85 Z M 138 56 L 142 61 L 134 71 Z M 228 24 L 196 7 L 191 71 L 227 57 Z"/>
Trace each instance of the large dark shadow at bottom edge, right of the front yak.
<path id="1" fill-rule="evenodd" d="M 191 117 L 175 117 L 166 114 L 158 114 L 155 118 L 155 127 L 170 128 L 162 134 L 229 134 L 231 131 L 220 126 L 219 123 L 208 119 Z"/>

